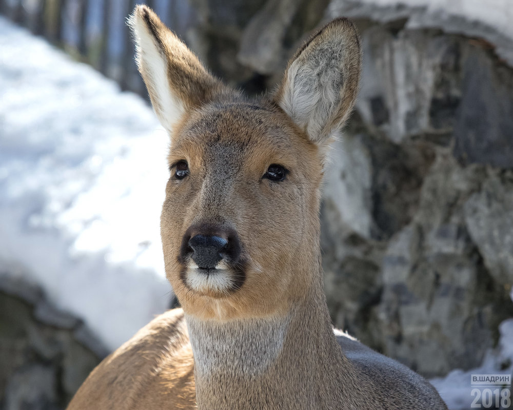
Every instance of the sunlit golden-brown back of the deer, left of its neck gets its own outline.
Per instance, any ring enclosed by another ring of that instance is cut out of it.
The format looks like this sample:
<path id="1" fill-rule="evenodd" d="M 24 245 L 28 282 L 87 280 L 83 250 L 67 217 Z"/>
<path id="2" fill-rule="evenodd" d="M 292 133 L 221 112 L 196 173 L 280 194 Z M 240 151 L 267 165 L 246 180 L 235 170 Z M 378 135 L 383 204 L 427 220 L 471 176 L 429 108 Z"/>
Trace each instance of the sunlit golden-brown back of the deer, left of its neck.
<path id="1" fill-rule="evenodd" d="M 181 309 L 148 323 L 89 375 L 68 409 L 195 408 L 194 364 Z"/>

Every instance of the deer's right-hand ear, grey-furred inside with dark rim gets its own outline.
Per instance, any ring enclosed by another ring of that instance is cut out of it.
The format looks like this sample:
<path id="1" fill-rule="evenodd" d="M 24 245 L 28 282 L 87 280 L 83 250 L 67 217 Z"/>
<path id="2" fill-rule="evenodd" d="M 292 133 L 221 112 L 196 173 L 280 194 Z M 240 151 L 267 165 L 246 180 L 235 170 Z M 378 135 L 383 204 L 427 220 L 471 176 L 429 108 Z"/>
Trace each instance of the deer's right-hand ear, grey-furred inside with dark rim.
<path id="1" fill-rule="evenodd" d="M 354 106 L 361 59 L 354 25 L 347 18 L 333 20 L 289 61 L 274 101 L 310 140 L 324 144 Z"/>

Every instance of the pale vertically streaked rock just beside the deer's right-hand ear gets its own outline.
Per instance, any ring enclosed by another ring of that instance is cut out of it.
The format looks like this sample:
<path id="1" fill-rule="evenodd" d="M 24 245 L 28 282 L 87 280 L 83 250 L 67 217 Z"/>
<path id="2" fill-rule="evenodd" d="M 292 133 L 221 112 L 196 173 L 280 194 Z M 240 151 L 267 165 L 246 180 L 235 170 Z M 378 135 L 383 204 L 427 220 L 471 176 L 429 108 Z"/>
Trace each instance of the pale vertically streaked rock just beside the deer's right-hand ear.
<path id="1" fill-rule="evenodd" d="M 420 32 L 383 27 L 362 36 L 364 60 L 358 110 L 392 142 L 429 128 L 429 95 L 439 50 Z M 426 98 L 427 97 L 427 98 Z"/>

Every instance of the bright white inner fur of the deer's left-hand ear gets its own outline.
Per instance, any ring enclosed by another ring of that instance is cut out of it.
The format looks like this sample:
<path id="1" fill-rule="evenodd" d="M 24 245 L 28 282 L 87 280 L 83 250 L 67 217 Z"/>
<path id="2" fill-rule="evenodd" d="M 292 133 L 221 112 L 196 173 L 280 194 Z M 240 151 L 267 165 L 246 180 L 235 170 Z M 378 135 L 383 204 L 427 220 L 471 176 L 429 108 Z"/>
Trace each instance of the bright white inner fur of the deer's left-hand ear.
<path id="1" fill-rule="evenodd" d="M 169 85 L 167 57 L 137 13 L 130 16 L 129 24 L 136 41 L 135 60 L 141 73 L 144 72 L 146 75 L 146 86 L 154 99 L 153 109 L 162 126 L 172 133 L 174 124 L 185 113 L 185 106 L 177 96 L 173 95 Z"/>

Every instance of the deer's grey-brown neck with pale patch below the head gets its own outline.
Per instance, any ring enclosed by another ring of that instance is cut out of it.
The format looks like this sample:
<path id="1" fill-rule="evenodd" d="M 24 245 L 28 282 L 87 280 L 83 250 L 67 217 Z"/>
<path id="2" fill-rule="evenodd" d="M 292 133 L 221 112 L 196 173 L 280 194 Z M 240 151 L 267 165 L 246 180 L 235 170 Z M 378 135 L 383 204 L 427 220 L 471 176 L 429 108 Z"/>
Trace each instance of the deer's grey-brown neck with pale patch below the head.
<path id="1" fill-rule="evenodd" d="M 200 410 L 343 408 L 356 377 L 333 335 L 321 280 L 318 288 L 285 317 L 186 316 Z"/>

